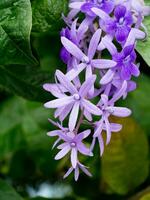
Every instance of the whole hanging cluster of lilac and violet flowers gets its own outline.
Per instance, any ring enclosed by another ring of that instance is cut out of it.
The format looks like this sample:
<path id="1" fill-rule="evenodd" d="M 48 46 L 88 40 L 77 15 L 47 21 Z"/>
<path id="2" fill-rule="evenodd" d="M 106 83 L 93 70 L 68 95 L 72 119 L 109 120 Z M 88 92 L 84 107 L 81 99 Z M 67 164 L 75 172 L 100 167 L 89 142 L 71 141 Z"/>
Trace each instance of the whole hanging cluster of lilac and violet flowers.
<path id="1" fill-rule="evenodd" d="M 80 155 L 93 156 L 97 142 L 102 155 L 102 132 L 109 144 L 111 133 L 121 130 L 122 126 L 111 122 L 110 117 L 131 114 L 130 109 L 117 107 L 116 102 L 136 89 L 131 80 L 140 74 L 135 47 L 137 40 L 146 37 L 142 21 L 150 8 L 137 0 L 72 0 L 69 7 L 68 16 L 63 16 L 67 27 L 61 31 L 60 52 L 67 70 L 65 74 L 56 70 L 56 83 L 43 87 L 56 97 L 45 103 L 46 108 L 56 109 L 54 117 L 58 119 L 50 119 L 57 130 L 48 133 L 57 137 L 53 147 L 60 151 L 55 159 L 69 154 L 71 168 L 64 177 L 74 171 L 77 180 L 79 170 L 91 176 L 79 161 Z M 84 123 L 89 129 L 81 131 Z M 88 146 L 87 137 L 91 138 Z"/>

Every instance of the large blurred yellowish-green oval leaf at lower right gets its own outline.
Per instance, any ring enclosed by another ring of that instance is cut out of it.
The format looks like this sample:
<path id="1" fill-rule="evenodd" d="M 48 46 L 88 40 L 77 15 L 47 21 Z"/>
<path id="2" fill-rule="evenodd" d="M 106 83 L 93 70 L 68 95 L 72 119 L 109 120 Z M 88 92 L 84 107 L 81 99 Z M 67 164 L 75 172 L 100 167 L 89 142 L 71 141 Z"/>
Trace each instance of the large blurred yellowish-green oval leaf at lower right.
<path id="1" fill-rule="evenodd" d="M 133 119 L 116 122 L 123 124 L 123 130 L 113 134 L 111 143 L 105 148 L 102 177 L 113 192 L 127 194 L 148 176 L 148 141 Z"/>

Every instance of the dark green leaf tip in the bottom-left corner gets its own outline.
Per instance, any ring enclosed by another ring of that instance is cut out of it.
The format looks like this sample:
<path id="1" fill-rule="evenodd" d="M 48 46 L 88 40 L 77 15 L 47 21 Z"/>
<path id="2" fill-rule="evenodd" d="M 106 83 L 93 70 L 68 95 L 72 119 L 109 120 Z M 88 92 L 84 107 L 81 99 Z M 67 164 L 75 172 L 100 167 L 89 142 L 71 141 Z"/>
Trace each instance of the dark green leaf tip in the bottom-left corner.
<path id="1" fill-rule="evenodd" d="M 23 200 L 23 198 L 10 185 L 0 180 L 0 200 Z"/>

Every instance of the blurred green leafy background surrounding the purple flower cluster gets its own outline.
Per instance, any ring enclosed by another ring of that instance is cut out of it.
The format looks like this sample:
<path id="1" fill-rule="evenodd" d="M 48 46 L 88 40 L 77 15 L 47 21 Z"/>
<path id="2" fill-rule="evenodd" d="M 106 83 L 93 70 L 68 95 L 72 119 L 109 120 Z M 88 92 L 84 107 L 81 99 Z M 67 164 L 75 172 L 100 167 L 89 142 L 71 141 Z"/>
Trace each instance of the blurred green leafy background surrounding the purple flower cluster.
<path id="1" fill-rule="evenodd" d="M 67 158 L 53 159 L 53 139 L 46 136 L 53 113 L 43 108 L 52 97 L 42 84 L 53 81 L 56 68 L 65 71 L 59 31 L 67 3 L 0 1 L 0 200 L 150 200 L 150 36 L 137 46 L 138 88 L 119 102 L 132 117 L 115 119 L 124 128 L 101 159 L 97 146 L 84 160 L 93 177 L 63 180 Z M 150 33 L 150 17 L 145 24 Z"/>

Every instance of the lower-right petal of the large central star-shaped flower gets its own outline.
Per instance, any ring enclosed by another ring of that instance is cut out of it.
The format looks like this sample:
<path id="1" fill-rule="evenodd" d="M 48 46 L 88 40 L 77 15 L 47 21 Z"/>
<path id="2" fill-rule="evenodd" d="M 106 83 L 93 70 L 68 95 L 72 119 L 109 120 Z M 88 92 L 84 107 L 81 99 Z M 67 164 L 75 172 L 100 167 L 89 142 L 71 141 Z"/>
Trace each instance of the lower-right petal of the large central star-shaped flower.
<path id="1" fill-rule="evenodd" d="M 92 104 L 90 101 L 88 101 L 86 99 L 82 100 L 82 105 L 91 114 L 94 114 L 94 115 L 102 114 L 102 111 L 97 106 L 95 106 L 94 104 Z"/>

